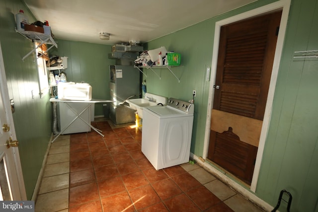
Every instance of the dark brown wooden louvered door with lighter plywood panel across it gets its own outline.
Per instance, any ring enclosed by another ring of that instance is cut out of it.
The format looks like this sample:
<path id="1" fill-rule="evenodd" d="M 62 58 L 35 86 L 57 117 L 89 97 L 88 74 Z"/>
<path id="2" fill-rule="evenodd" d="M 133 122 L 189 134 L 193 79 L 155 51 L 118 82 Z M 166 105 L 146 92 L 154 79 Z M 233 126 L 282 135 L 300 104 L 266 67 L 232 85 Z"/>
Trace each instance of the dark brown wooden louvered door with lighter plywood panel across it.
<path id="1" fill-rule="evenodd" d="M 281 11 L 221 28 L 208 159 L 250 184 Z"/>

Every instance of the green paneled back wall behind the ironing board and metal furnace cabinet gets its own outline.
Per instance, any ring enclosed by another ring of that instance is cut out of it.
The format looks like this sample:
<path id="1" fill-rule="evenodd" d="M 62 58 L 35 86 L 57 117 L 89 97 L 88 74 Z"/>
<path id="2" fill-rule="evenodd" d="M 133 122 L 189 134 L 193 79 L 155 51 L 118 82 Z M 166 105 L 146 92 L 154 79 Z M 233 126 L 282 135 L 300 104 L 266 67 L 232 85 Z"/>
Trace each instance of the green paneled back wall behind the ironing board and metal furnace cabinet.
<path id="1" fill-rule="evenodd" d="M 64 70 L 67 81 L 89 83 L 92 98 L 110 99 L 109 65 L 115 65 L 115 60 L 108 59 L 112 46 L 59 39 L 56 42 L 58 48 L 50 51 L 50 57 L 68 57 L 68 68 Z M 103 115 L 102 104 L 95 104 L 95 116 Z"/>

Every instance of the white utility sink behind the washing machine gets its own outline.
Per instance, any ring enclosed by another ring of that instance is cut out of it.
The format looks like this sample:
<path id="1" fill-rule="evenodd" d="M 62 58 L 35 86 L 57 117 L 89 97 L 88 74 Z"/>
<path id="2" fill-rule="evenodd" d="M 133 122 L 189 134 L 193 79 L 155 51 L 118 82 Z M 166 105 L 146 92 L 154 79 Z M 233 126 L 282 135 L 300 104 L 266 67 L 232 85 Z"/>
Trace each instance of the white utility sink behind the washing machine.
<path id="1" fill-rule="evenodd" d="M 150 99 L 152 99 L 153 101 L 150 101 Z M 126 100 L 126 102 L 129 104 L 129 107 L 137 111 L 140 118 L 143 118 L 143 107 L 156 106 L 159 103 L 161 103 L 162 105 L 166 105 L 167 98 L 152 93 L 146 93 L 145 98 L 128 99 Z"/>

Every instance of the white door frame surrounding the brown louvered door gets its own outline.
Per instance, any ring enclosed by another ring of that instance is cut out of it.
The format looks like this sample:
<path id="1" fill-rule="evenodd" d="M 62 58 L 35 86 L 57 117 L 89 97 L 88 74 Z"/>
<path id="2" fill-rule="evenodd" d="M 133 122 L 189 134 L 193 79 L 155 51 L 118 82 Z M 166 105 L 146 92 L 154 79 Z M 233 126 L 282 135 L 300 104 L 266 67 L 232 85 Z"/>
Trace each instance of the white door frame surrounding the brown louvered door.
<path id="1" fill-rule="evenodd" d="M 207 120 L 206 120 L 206 128 L 205 128 L 205 137 L 204 137 L 204 146 L 203 146 L 203 159 L 207 159 L 208 149 L 209 149 L 209 138 L 210 138 L 210 127 L 211 127 L 211 111 L 213 108 L 213 97 L 214 97 L 214 88 L 216 80 L 216 72 L 217 72 L 217 63 L 218 63 L 218 52 L 219 52 L 219 41 L 220 41 L 220 30 L 223 25 L 230 24 L 245 18 L 261 15 L 267 12 L 271 12 L 274 10 L 282 9 L 282 17 L 279 27 L 279 33 L 277 37 L 277 44 L 272 68 L 271 79 L 269 83 L 268 96 L 266 102 L 266 108 L 264 113 L 263 125 L 261 129 L 259 145 L 257 150 L 256 162 L 254 167 L 254 173 L 252 177 L 252 182 L 250 186 L 250 190 L 252 192 L 256 191 L 256 185 L 258 180 L 258 175 L 260 171 L 261 160 L 263 156 L 267 131 L 269 127 L 270 116 L 272 112 L 273 98 L 276 87 L 277 75 L 280 65 L 280 59 L 283 50 L 283 44 L 285 39 L 285 32 L 288 21 L 288 14 L 290 8 L 291 0 L 278 0 L 276 2 L 240 13 L 238 15 L 220 20 L 215 24 L 215 32 L 214 32 L 214 43 L 213 43 L 213 56 L 212 56 L 212 65 L 211 65 L 211 80 L 210 80 L 210 89 L 209 89 L 209 98 L 208 98 L 208 111 L 207 111 Z M 221 172 L 220 172 L 221 173 Z M 225 174 L 222 176 L 228 181 L 229 177 Z"/>

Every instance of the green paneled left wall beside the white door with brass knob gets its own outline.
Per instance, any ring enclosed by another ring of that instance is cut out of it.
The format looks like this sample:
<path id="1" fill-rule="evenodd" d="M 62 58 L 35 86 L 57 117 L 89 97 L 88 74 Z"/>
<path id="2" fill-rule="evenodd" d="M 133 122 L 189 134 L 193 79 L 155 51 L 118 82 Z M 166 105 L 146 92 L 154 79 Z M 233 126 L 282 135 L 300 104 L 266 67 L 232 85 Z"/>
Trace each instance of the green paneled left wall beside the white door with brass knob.
<path id="1" fill-rule="evenodd" d="M 29 22 L 34 18 L 21 0 L 0 1 L 0 42 L 9 97 L 14 99 L 13 115 L 25 183 L 30 200 L 52 134 L 52 109 L 49 95 L 40 98 L 35 56 L 22 58 L 33 43 L 15 32 L 14 15 L 24 10 Z M 32 98 L 32 91 L 35 94 Z"/>

